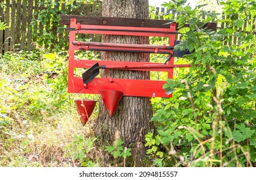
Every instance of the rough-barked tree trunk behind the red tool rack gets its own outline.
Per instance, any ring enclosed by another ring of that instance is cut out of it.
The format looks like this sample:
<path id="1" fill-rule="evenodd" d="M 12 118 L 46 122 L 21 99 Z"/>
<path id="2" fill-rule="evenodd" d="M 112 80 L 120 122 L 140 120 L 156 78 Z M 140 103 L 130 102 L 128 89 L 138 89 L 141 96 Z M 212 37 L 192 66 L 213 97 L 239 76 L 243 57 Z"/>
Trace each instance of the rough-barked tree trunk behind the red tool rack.
<path id="1" fill-rule="evenodd" d="M 104 0 L 102 3 L 102 16 L 147 19 L 149 15 L 148 3 L 147 0 Z M 149 38 L 104 35 L 102 42 L 149 44 Z M 149 54 L 102 52 L 102 60 L 148 62 Z M 102 77 L 150 78 L 149 72 L 145 71 L 104 69 L 101 72 Z M 115 137 L 114 134 L 120 134 L 120 138 L 124 141 L 125 146 L 132 149 L 133 158 L 131 158 L 129 166 L 142 166 L 143 156 L 145 155 L 145 134 L 152 129 L 151 117 L 152 105 L 150 98 L 123 96 L 112 118 L 109 118 L 101 101 L 98 120 L 96 122 L 96 135 L 102 145 L 111 145 L 116 138 L 119 138 Z"/>

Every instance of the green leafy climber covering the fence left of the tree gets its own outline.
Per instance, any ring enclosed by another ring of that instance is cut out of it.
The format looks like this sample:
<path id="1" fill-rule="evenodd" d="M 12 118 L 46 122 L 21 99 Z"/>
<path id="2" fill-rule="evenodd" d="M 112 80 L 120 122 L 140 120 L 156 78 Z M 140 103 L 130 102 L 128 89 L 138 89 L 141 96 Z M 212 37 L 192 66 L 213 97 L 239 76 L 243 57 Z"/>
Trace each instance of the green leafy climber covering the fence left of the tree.
<path id="1" fill-rule="evenodd" d="M 43 8 L 33 12 L 32 22 L 30 23 L 30 28 L 37 27 L 33 29 L 33 38 L 36 39 L 37 46 L 51 47 L 49 48 L 50 51 L 68 48 L 68 42 L 65 37 L 68 31 L 60 28 L 63 27 L 63 25 L 59 25 L 60 14 L 89 15 L 87 6 L 94 2 L 94 0 L 63 0 L 58 4 L 52 0 L 37 2 L 37 6 Z M 97 1 L 96 6 L 100 6 L 100 4 L 100 1 Z M 65 8 L 62 7 L 63 5 Z M 52 28 L 57 28 L 57 34 L 62 34 L 64 38 L 57 39 L 55 33 L 51 30 Z"/>

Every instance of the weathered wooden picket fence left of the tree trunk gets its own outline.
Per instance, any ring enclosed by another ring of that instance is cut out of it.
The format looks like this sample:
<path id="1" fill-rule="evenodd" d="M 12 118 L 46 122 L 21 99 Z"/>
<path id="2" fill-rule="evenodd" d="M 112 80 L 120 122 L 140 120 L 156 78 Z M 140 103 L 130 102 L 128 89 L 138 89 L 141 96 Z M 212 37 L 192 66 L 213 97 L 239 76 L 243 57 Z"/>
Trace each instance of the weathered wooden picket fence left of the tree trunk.
<path id="1" fill-rule="evenodd" d="M 101 15 L 101 1 L 73 4 L 59 0 L 0 0 L 1 53 L 32 50 L 33 46 L 53 48 L 58 42 L 67 43 L 67 30 L 58 29 L 59 15 Z"/>

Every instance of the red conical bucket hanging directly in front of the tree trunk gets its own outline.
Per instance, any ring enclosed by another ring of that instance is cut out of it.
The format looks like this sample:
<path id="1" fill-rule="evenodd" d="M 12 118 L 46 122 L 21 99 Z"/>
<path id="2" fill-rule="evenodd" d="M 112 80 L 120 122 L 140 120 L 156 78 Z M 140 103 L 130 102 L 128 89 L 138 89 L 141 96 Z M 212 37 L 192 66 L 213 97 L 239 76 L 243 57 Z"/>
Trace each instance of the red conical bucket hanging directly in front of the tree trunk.
<path id="1" fill-rule="evenodd" d="M 105 108 L 107 109 L 107 113 L 110 117 L 112 117 L 114 111 L 116 111 L 118 103 L 123 96 L 123 93 L 121 91 L 102 90 L 100 91 L 100 95 L 102 96 Z"/>

